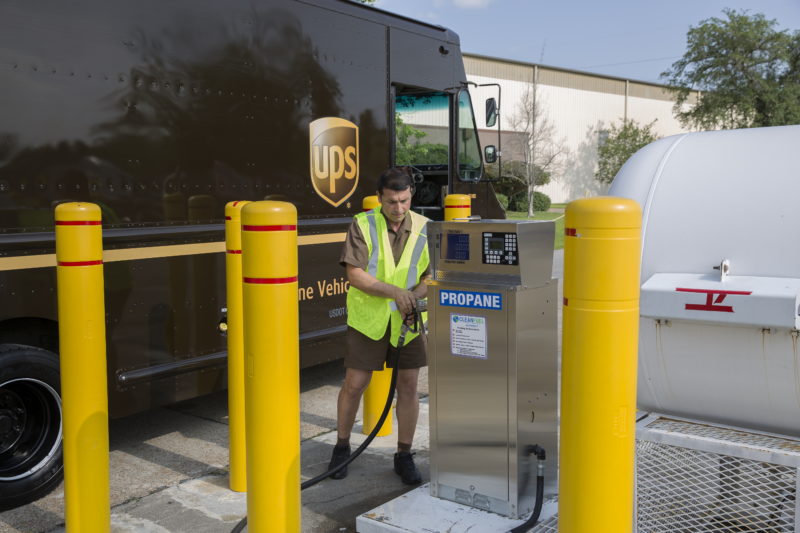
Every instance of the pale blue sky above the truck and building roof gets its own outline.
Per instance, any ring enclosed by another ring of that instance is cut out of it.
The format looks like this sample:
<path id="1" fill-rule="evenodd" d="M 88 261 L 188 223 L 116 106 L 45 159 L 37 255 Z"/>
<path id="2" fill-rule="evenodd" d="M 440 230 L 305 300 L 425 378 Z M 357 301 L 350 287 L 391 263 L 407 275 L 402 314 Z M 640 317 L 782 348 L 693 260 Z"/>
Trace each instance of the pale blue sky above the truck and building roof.
<path id="1" fill-rule="evenodd" d="M 663 83 L 686 32 L 723 9 L 800 30 L 800 0 L 377 0 L 375 7 L 455 31 L 462 52 Z"/>

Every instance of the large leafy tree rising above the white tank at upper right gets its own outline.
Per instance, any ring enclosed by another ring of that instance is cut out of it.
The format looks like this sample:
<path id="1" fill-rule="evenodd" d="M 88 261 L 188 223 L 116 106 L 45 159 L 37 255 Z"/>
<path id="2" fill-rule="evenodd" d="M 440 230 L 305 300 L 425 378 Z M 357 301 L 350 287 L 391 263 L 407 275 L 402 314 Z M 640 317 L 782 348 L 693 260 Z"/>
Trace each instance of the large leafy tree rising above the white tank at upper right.
<path id="1" fill-rule="evenodd" d="M 800 122 L 800 31 L 779 31 L 760 13 L 723 13 L 690 27 L 683 57 L 661 74 L 675 116 L 697 129 Z"/>

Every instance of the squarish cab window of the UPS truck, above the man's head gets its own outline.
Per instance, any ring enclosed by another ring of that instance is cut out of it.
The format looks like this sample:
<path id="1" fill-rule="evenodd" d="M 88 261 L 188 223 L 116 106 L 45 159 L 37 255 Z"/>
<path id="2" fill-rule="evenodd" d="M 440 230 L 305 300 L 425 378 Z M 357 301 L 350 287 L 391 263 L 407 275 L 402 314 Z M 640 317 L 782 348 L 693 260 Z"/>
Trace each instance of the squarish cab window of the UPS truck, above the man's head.
<path id="1" fill-rule="evenodd" d="M 446 93 L 395 98 L 395 163 L 447 166 L 449 109 Z"/>

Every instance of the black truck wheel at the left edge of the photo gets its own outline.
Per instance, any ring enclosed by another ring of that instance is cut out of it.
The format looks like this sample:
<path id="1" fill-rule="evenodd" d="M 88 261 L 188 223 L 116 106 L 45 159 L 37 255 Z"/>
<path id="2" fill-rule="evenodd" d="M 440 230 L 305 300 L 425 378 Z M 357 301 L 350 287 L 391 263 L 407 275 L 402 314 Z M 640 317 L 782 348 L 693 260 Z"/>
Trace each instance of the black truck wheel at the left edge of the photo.
<path id="1" fill-rule="evenodd" d="M 41 498 L 64 475 L 58 356 L 0 346 L 0 511 Z"/>

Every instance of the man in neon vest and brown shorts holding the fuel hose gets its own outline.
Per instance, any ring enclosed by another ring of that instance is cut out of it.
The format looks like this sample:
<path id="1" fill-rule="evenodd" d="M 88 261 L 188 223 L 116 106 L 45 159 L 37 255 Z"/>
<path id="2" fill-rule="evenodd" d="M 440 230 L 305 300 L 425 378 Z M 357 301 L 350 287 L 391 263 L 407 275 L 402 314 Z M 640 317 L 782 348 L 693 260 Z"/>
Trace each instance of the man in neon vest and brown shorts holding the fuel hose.
<path id="1" fill-rule="evenodd" d="M 378 178 L 380 206 L 355 216 L 347 231 L 340 263 L 347 271 L 346 369 L 337 402 L 338 440 L 329 469 L 350 455 L 350 432 L 361 395 L 374 370 L 397 355 L 397 453 L 394 471 L 403 483 L 420 483 L 411 444 L 419 415 L 417 381 L 427 364 L 424 335 L 409 332 L 397 353 L 404 320 L 427 292 L 428 219 L 411 211 L 414 180 L 411 169 L 394 167 Z M 392 310 L 391 303 L 397 310 Z M 331 475 L 347 476 L 347 467 Z"/>

